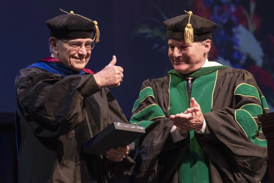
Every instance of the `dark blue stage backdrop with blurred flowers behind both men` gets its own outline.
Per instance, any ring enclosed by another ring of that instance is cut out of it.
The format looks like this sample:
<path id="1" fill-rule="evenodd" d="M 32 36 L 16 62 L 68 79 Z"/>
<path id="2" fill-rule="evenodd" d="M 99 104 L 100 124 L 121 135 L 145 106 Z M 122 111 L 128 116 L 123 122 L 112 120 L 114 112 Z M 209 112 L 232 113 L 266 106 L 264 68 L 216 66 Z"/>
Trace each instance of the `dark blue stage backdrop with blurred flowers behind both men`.
<path id="1" fill-rule="evenodd" d="M 50 55 L 45 21 L 59 10 L 98 22 L 100 42 L 86 68 L 99 72 L 116 55 L 124 68 L 120 87 L 110 88 L 127 118 L 145 79 L 167 75 L 173 67 L 162 22 L 184 10 L 218 24 L 212 32 L 209 60 L 251 72 L 274 111 L 273 1 L 152 0 L 152 1 L 1 1 L 1 151 L 0 182 L 16 182 L 14 79 L 21 68 Z"/>

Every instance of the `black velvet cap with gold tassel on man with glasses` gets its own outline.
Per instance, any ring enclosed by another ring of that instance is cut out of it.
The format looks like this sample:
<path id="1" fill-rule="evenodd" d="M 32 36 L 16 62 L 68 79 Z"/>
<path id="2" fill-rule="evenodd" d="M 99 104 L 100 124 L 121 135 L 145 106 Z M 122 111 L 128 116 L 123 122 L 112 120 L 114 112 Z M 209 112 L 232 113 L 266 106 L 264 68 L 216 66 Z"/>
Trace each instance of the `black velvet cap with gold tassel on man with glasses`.
<path id="1" fill-rule="evenodd" d="M 93 41 L 95 40 L 95 37 L 95 42 L 99 41 L 100 32 L 96 21 L 74 14 L 73 11 L 65 13 L 67 14 L 56 16 L 45 22 L 50 29 L 50 36 L 55 38 L 85 39 L 92 38 L 93 31 L 96 30 Z"/>

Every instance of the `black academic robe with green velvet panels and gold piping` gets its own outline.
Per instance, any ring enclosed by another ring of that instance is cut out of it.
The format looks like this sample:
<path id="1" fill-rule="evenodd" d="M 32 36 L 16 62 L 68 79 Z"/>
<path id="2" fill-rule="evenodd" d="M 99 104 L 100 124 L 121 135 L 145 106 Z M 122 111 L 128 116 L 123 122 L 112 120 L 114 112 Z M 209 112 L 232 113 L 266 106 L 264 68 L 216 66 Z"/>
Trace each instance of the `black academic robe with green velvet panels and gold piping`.
<path id="1" fill-rule="evenodd" d="M 174 143 L 170 115 L 189 107 L 186 75 L 143 82 L 131 124 L 146 128 L 138 139 L 138 182 L 260 182 L 266 171 L 267 142 L 257 115 L 269 112 L 266 99 L 246 70 L 226 66 L 203 67 L 190 98 L 201 106 L 206 134 L 189 131 Z"/>

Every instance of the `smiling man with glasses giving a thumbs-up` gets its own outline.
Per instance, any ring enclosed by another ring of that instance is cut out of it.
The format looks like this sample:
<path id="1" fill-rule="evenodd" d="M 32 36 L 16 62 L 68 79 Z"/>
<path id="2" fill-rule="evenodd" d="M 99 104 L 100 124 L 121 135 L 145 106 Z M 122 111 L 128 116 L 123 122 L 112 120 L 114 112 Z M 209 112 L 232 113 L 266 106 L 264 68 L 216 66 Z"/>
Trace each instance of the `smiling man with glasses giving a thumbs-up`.
<path id="1" fill-rule="evenodd" d="M 51 56 L 20 70 L 15 79 L 22 133 L 19 182 L 110 182 L 130 175 L 135 162 L 127 156 L 129 146 L 110 148 L 107 156 L 82 152 L 82 145 L 113 121 L 128 123 L 107 89 L 122 82 L 116 57 L 98 73 L 84 68 L 99 41 L 97 22 L 71 11 L 46 25 Z"/>

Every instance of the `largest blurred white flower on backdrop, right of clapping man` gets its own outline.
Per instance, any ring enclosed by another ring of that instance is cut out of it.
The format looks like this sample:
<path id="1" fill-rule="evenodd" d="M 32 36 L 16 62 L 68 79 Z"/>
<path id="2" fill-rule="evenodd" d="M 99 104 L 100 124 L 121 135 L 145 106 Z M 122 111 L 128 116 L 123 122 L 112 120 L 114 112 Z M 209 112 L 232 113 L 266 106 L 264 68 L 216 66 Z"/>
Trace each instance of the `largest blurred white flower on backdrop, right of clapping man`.
<path id="1" fill-rule="evenodd" d="M 256 62 L 257 66 L 262 67 L 264 53 L 255 36 L 242 25 L 238 25 L 232 30 L 239 41 L 239 45 L 235 45 L 234 49 L 244 54 L 244 59 L 249 55 Z"/>

